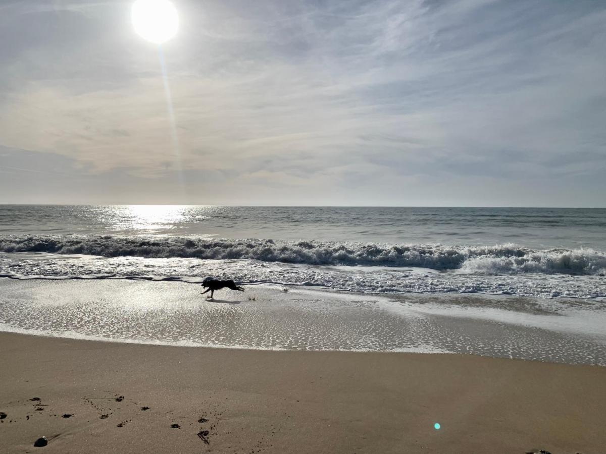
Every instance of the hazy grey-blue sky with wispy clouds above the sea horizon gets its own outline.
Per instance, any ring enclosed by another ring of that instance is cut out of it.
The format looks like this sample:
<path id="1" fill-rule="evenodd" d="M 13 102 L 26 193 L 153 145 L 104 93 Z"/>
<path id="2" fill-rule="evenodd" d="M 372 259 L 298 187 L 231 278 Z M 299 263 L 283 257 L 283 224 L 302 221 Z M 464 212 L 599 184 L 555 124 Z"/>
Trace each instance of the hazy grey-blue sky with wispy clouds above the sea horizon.
<path id="1" fill-rule="evenodd" d="M 606 206 L 606 2 L 173 4 L 0 0 L 0 203 Z"/>

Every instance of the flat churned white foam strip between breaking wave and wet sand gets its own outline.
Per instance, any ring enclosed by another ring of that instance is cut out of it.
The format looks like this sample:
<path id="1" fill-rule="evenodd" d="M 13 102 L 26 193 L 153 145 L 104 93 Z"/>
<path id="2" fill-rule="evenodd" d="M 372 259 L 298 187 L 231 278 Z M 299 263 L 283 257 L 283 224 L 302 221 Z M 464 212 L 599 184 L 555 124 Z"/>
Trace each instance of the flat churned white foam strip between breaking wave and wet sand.
<path id="1" fill-rule="evenodd" d="M 487 293 L 538 298 L 606 298 L 606 277 L 596 275 L 488 275 L 428 268 L 198 258 L 103 258 L 32 253 L 0 256 L 0 276 L 21 280 L 124 279 L 201 283 L 207 275 L 230 278 L 247 285 L 275 283 L 282 286 L 321 286 L 365 293 Z"/>

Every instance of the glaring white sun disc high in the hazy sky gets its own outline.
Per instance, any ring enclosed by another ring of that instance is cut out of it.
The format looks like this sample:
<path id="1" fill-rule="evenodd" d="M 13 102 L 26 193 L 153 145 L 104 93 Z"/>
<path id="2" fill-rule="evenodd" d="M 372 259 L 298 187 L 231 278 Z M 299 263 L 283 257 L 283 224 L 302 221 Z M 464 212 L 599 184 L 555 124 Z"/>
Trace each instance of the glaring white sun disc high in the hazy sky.
<path id="1" fill-rule="evenodd" d="M 179 28 L 177 10 L 168 0 L 137 0 L 132 19 L 138 35 L 156 44 L 173 38 Z"/>

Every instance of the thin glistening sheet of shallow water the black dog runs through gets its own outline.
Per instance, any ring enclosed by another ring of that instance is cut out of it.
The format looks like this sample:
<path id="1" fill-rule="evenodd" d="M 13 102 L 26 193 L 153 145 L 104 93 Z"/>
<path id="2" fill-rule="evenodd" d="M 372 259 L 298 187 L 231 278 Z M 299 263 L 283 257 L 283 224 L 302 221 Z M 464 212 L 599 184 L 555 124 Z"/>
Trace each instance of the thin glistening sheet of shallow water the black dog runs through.
<path id="1" fill-rule="evenodd" d="M 0 329 L 180 346 L 459 353 L 606 366 L 595 301 L 400 297 L 181 282 L 0 280 Z M 250 299 L 248 299 L 250 298 Z"/>

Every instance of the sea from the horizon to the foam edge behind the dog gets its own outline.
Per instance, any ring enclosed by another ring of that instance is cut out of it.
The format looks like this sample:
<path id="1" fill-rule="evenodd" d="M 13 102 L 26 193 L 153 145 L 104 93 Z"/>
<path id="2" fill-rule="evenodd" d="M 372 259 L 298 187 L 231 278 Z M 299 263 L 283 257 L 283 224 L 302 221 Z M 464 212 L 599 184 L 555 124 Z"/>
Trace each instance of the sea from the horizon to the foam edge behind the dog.
<path id="1" fill-rule="evenodd" d="M 0 275 L 606 298 L 606 209 L 1 205 Z"/>

